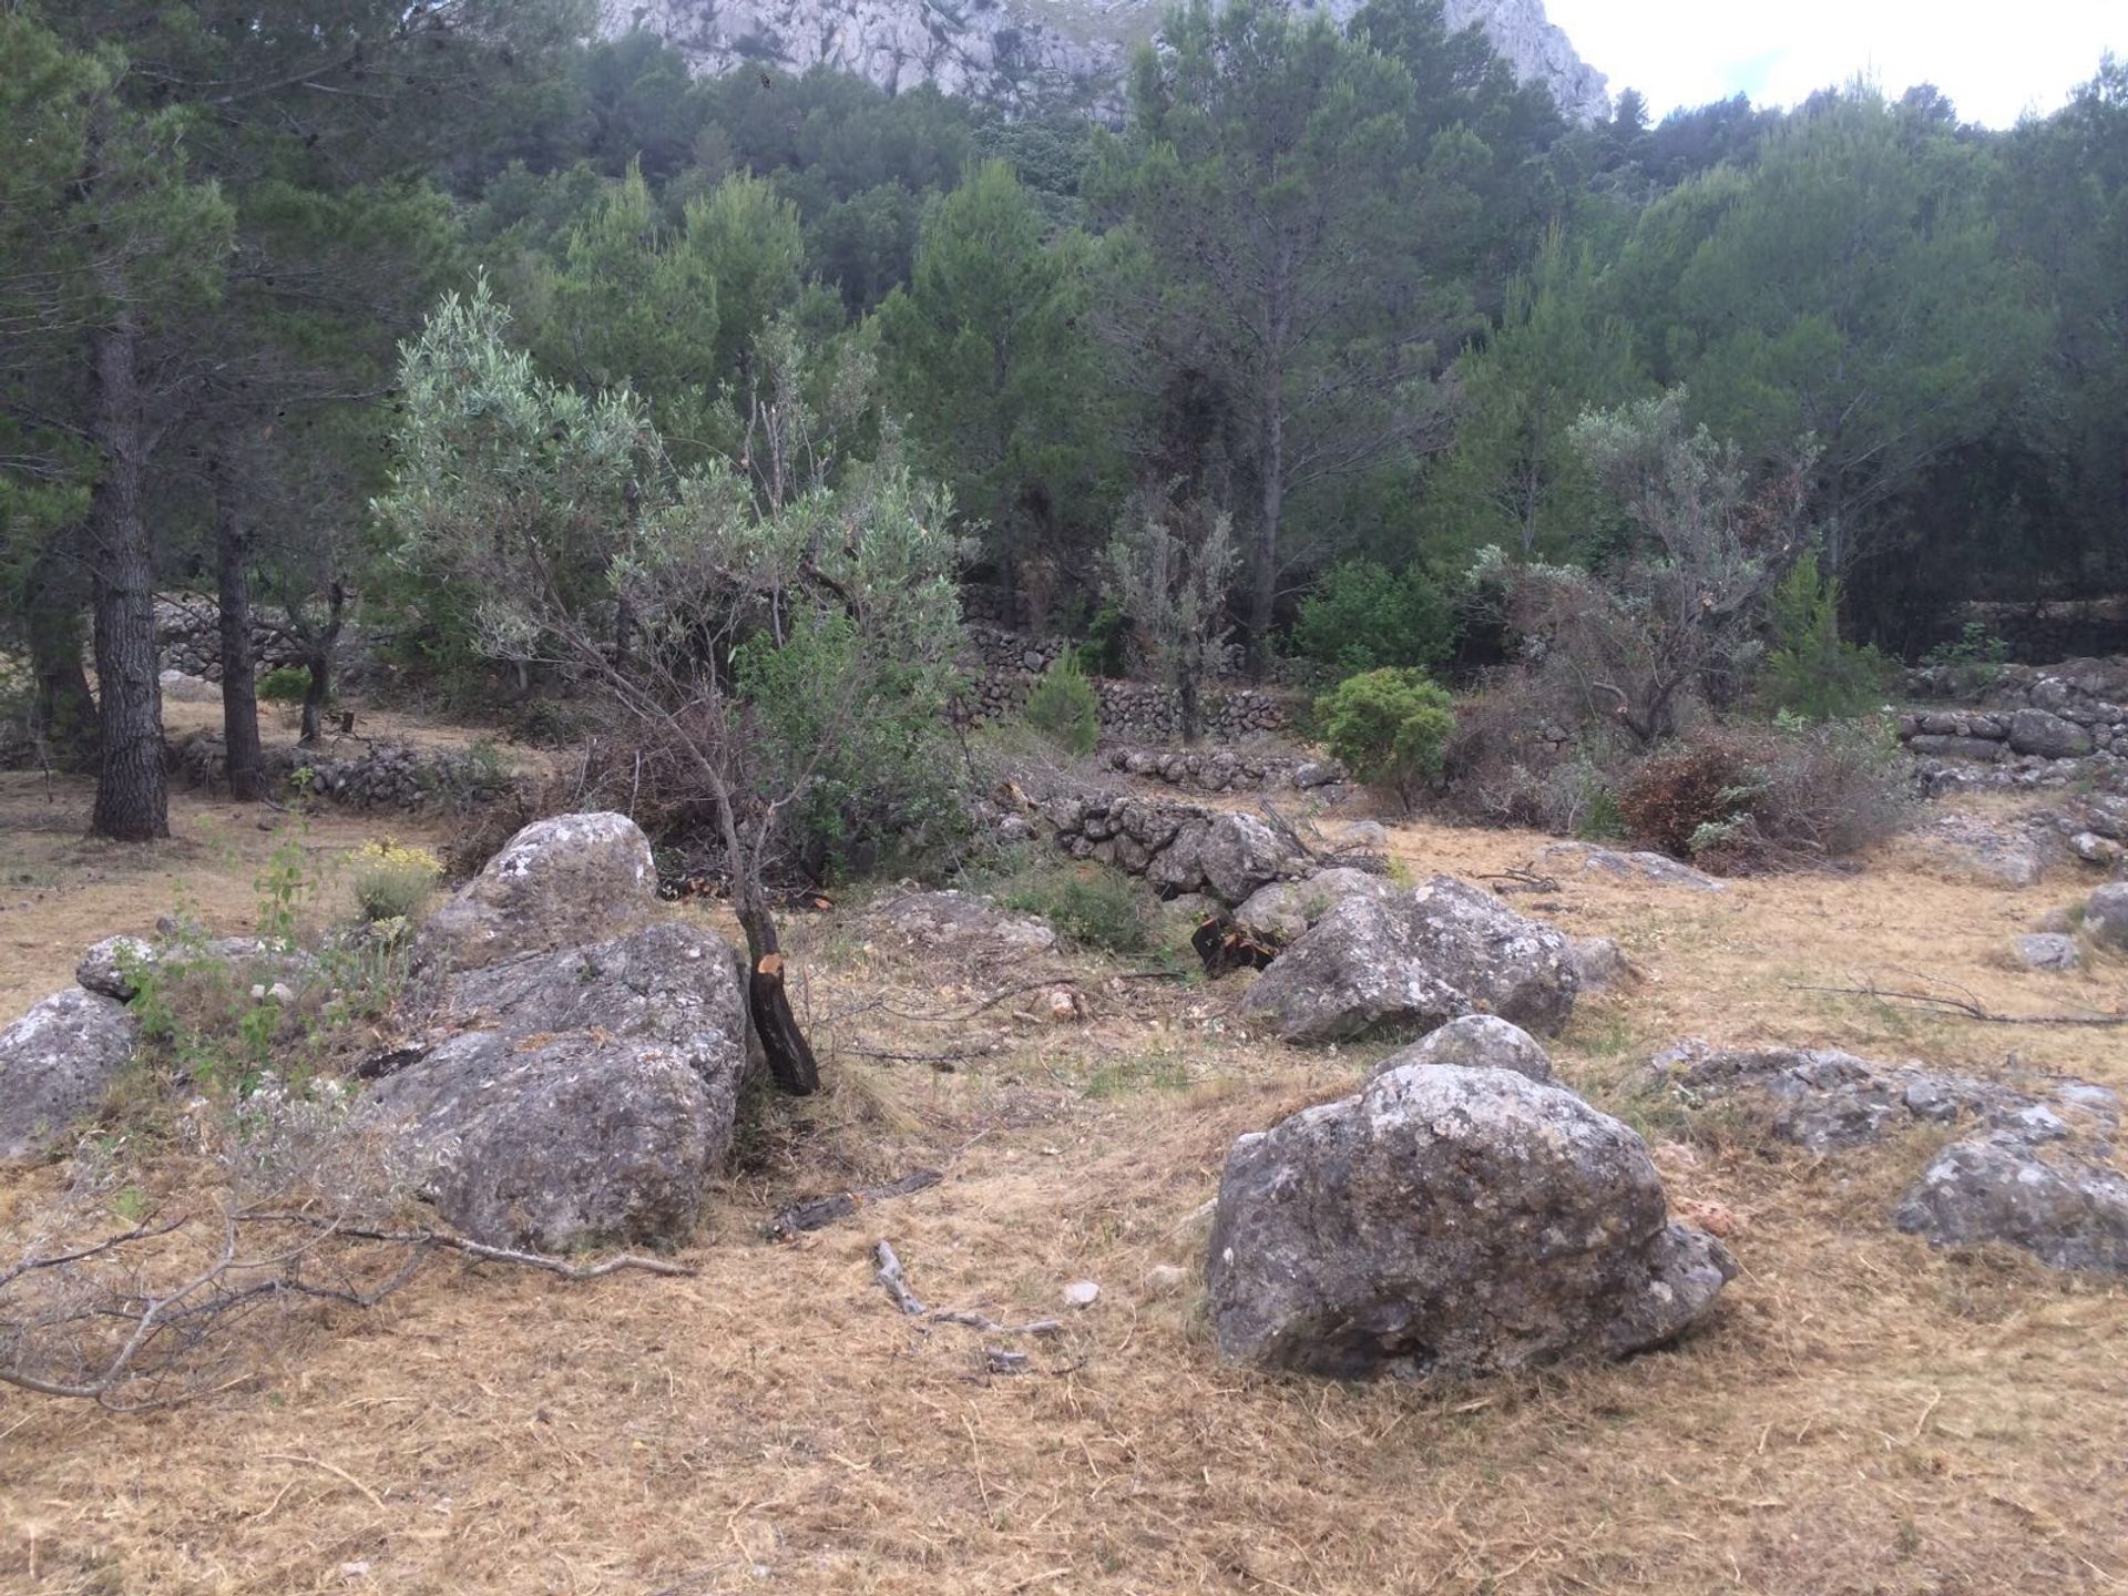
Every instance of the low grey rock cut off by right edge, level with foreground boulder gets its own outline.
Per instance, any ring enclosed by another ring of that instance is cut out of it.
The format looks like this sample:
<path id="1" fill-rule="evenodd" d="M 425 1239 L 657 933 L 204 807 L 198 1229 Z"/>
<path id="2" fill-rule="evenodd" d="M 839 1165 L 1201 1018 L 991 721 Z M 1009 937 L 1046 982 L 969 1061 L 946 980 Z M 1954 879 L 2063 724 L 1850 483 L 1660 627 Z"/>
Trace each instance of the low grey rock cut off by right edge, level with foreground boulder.
<path id="1" fill-rule="evenodd" d="M 1998 1132 L 1945 1147 L 1892 1221 L 1939 1247 L 2005 1243 L 2051 1268 L 2128 1275 L 2128 1179 L 2047 1141 Z"/>

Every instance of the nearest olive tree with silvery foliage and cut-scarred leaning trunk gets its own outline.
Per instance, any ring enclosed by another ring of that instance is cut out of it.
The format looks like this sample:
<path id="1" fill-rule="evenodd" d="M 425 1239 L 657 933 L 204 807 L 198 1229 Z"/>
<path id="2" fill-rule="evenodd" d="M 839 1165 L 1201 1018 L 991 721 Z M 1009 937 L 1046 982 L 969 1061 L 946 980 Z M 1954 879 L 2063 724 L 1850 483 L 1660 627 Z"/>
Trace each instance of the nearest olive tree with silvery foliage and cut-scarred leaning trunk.
<path id="1" fill-rule="evenodd" d="M 755 409 L 753 475 L 715 458 L 681 472 L 632 389 L 555 383 L 506 332 L 483 283 L 406 345 L 398 464 L 377 502 L 392 558 L 464 596 L 481 653 L 602 696 L 700 783 L 775 1066 L 775 1030 L 796 1024 L 770 872 L 809 817 L 951 770 L 936 747 L 960 638 L 947 498 L 909 475 L 892 434 L 828 472 L 834 440 L 796 377 Z M 762 345 L 770 370 L 766 345 L 798 360 L 787 338 Z M 860 377 L 843 368 L 830 396 L 847 404 Z M 809 1073 L 807 1053 L 779 1079 L 811 1090 Z"/>

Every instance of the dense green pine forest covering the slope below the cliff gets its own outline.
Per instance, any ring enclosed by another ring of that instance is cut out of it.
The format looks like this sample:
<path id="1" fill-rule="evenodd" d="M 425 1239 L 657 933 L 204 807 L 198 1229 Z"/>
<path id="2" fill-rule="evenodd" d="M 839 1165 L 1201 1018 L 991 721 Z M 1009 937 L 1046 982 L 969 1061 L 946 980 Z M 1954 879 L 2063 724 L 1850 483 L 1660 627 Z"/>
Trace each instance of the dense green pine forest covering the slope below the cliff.
<path id="1" fill-rule="evenodd" d="M 1260 675 L 1470 664 L 1473 570 L 1647 523 L 1592 413 L 1809 543 L 1847 643 L 2128 587 L 2119 62 L 2000 132 L 1871 85 L 1579 128 L 1434 0 L 1198 0 L 1102 126 L 585 21 L 0 9 L 0 643 L 96 830 L 164 824 L 164 589 L 219 596 L 238 794 L 255 606 L 313 724 L 351 611 L 479 700 L 715 632 L 675 596 L 741 566 L 719 670 L 785 700 L 811 666 L 745 638 L 800 587 L 919 675 L 953 581 L 1094 662 L 1164 602 Z"/>

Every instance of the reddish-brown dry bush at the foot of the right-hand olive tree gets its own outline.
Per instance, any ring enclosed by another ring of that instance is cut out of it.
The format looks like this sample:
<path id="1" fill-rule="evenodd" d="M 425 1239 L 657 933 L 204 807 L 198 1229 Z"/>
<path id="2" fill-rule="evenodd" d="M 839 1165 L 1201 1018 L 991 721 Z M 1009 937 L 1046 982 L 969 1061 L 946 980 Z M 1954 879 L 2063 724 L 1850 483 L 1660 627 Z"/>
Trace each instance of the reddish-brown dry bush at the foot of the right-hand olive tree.
<path id="1" fill-rule="evenodd" d="M 1881 719 L 1707 728 L 1645 760 L 1619 794 L 1636 843 L 1741 875 L 1845 858 L 1913 802 Z"/>

